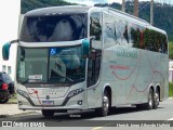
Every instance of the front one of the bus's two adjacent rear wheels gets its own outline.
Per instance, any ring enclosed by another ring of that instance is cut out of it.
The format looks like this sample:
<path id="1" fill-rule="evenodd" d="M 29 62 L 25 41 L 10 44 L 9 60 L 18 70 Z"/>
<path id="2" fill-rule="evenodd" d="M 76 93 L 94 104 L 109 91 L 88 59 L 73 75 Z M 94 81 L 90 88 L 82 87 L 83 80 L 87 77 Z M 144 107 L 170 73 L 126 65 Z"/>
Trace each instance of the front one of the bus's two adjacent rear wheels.
<path id="1" fill-rule="evenodd" d="M 148 93 L 148 103 L 145 105 L 146 109 L 152 109 L 154 107 L 154 92 L 150 89 Z"/>

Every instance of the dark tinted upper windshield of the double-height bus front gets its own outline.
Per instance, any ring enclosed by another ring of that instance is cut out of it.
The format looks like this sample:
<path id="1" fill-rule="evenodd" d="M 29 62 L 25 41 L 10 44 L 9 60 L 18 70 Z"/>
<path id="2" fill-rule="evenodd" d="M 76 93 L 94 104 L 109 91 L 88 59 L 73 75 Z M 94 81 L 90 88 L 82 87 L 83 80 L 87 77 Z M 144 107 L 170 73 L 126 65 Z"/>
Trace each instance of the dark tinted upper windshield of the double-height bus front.
<path id="1" fill-rule="evenodd" d="M 19 40 L 24 42 L 72 41 L 86 38 L 88 15 L 56 14 L 25 16 Z"/>

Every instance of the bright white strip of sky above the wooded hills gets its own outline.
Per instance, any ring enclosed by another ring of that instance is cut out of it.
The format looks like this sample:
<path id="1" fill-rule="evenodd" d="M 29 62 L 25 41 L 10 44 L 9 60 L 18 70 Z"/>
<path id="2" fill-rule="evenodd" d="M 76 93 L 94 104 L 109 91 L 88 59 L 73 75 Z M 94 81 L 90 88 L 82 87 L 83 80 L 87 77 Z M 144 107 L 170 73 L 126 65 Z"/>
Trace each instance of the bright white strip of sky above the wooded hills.
<path id="1" fill-rule="evenodd" d="M 112 3 L 112 2 L 118 2 L 118 3 L 122 3 L 122 0 L 65 0 L 68 2 L 74 2 L 74 3 L 80 3 L 80 4 L 88 4 L 88 5 L 93 5 L 94 3 Z M 129 0 L 127 0 L 129 1 Z M 132 0 L 131 0 L 132 1 Z M 150 1 L 150 0 L 138 0 L 138 1 Z M 173 0 L 154 0 L 156 2 L 167 2 L 167 3 L 173 3 Z"/>

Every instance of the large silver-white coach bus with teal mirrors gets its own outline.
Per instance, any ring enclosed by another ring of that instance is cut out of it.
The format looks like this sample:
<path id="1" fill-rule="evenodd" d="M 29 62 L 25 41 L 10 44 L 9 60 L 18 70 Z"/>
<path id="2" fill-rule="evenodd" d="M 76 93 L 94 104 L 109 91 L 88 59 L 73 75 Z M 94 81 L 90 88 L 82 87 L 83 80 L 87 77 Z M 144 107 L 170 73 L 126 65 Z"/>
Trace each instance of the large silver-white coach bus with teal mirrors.
<path id="1" fill-rule="evenodd" d="M 45 117 L 68 109 L 106 116 L 120 105 L 157 108 L 169 93 L 164 30 L 127 13 L 84 5 L 25 14 L 17 42 L 19 109 Z"/>

